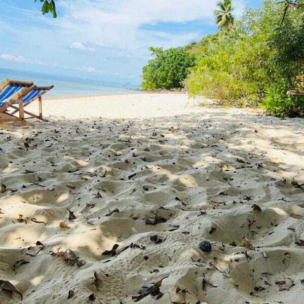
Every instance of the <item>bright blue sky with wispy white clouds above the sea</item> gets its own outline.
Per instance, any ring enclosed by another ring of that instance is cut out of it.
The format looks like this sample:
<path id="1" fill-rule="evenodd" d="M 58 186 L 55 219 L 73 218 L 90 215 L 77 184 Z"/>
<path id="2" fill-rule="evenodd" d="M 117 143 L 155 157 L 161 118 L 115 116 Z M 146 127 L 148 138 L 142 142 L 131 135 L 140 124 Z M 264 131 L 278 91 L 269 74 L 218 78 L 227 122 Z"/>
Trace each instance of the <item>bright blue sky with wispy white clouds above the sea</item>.
<path id="1" fill-rule="evenodd" d="M 177 47 L 217 30 L 216 0 L 0 0 L 0 67 L 140 84 L 148 47 Z M 259 0 L 235 0 L 236 14 Z"/>

